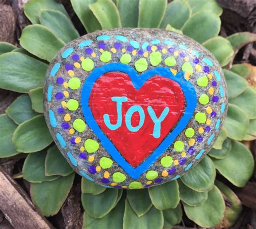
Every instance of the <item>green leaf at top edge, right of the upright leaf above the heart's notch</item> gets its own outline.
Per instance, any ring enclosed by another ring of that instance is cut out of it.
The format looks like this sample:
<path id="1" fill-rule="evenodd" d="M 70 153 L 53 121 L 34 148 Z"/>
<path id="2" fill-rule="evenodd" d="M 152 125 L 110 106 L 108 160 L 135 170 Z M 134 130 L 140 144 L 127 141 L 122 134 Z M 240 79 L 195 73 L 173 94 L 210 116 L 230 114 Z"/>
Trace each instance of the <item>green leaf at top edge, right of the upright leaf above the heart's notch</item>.
<path id="1" fill-rule="evenodd" d="M 191 16 L 190 5 L 185 1 L 175 1 L 167 4 L 164 19 L 160 28 L 165 29 L 170 24 L 175 29 L 180 30 L 184 23 Z"/>

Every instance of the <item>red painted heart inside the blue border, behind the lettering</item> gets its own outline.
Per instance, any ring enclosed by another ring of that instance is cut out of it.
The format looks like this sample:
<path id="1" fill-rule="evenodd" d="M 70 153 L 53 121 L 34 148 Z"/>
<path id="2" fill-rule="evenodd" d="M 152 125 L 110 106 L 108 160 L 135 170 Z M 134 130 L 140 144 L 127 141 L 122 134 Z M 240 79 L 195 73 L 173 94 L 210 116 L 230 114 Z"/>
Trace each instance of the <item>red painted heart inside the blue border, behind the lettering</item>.
<path id="1" fill-rule="evenodd" d="M 122 124 L 115 130 L 111 130 L 106 124 L 106 119 L 104 120 L 104 115 L 108 115 L 112 125 L 118 123 L 117 102 L 112 101 L 113 97 L 127 98 L 127 101 L 121 103 Z M 184 114 L 185 96 L 177 82 L 160 75 L 154 75 L 137 90 L 126 73 L 107 72 L 95 81 L 90 94 L 89 106 L 105 135 L 126 161 L 136 168 L 176 127 Z M 131 126 L 141 126 L 138 131 L 131 131 L 127 128 L 126 119 L 129 120 L 129 117 L 125 118 L 125 115 L 132 106 L 140 106 L 145 115 L 142 126 L 140 125 L 142 114 L 134 112 L 131 116 Z M 166 107 L 169 108 L 169 112 L 160 123 L 159 137 L 153 136 L 156 123 L 149 114 L 149 106 L 157 119 Z"/>

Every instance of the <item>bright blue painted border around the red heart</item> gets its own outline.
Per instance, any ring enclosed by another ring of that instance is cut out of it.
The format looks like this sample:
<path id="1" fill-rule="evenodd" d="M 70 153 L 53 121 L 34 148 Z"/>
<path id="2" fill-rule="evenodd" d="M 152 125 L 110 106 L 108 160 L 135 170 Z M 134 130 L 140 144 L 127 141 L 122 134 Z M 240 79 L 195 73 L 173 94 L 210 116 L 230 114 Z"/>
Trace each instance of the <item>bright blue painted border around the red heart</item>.
<path id="1" fill-rule="evenodd" d="M 103 131 L 100 129 L 97 122 L 95 121 L 91 109 L 89 107 L 91 89 L 95 81 L 104 73 L 114 71 L 124 72 L 128 74 L 131 78 L 134 88 L 136 88 L 137 90 L 139 90 L 140 87 L 142 87 L 143 84 L 153 75 L 160 75 L 161 77 L 171 79 L 180 85 L 186 99 L 186 108 L 184 111 L 184 115 L 179 120 L 177 126 L 164 138 L 164 140 L 158 145 L 158 147 L 152 152 L 152 154 L 148 156 L 145 159 L 145 161 L 142 164 L 138 165 L 136 168 L 133 168 L 125 160 L 125 158 L 120 154 L 120 152 L 109 140 L 109 138 L 103 133 Z M 197 106 L 197 95 L 192 84 L 189 81 L 185 80 L 183 71 L 178 72 L 174 76 L 168 67 L 156 67 L 139 75 L 137 71 L 135 71 L 129 65 L 122 63 L 111 63 L 106 64 L 102 67 L 95 68 L 95 70 L 93 70 L 91 74 L 87 77 L 82 88 L 80 103 L 82 105 L 82 112 L 84 114 L 87 124 L 98 136 L 101 144 L 106 149 L 106 151 L 131 178 L 138 179 L 140 175 L 142 175 L 143 172 L 149 169 L 151 164 L 154 163 L 157 160 L 157 158 L 161 156 L 168 147 L 170 147 L 174 139 L 187 126 L 187 123 L 191 119 L 194 113 L 194 109 Z"/>

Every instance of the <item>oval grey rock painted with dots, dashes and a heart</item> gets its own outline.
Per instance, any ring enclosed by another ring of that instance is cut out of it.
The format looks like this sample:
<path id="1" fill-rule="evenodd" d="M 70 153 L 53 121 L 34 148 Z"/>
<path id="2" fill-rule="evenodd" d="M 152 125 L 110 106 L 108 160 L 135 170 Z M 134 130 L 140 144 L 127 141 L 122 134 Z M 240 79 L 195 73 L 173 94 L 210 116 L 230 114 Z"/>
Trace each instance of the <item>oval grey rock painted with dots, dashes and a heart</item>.
<path id="1" fill-rule="evenodd" d="M 159 29 L 87 34 L 52 60 L 45 119 L 73 169 L 97 184 L 136 189 L 177 179 L 218 137 L 227 90 L 196 41 Z"/>

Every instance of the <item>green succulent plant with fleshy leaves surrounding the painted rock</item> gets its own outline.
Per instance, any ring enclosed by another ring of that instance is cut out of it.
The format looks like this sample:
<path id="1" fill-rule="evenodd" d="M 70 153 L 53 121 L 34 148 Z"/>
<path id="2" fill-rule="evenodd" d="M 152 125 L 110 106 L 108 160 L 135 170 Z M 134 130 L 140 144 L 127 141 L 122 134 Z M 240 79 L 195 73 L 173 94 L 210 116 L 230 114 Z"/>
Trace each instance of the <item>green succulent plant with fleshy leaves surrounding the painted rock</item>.
<path id="1" fill-rule="evenodd" d="M 82 178 L 84 228 L 171 228 L 186 216 L 202 227 L 230 227 L 242 205 L 216 173 L 242 187 L 254 161 L 241 141 L 256 138 L 255 88 L 250 64 L 232 65 L 239 48 L 256 35 L 218 36 L 223 10 L 215 0 L 71 0 L 87 33 L 114 27 L 160 27 L 183 33 L 210 50 L 224 68 L 228 112 L 224 127 L 205 158 L 178 181 L 140 190 L 106 189 Z M 0 115 L 0 157 L 26 156 L 22 176 L 30 182 L 32 202 L 53 216 L 73 185 L 75 172 L 53 143 L 43 116 L 43 83 L 49 62 L 80 35 L 62 4 L 31 0 L 24 6 L 32 25 L 21 47 L 0 43 L 0 88 L 23 93 Z M 225 198 L 230 200 L 225 204 Z M 104 204 L 103 204 L 104 203 Z"/>

